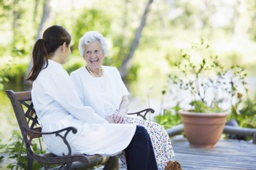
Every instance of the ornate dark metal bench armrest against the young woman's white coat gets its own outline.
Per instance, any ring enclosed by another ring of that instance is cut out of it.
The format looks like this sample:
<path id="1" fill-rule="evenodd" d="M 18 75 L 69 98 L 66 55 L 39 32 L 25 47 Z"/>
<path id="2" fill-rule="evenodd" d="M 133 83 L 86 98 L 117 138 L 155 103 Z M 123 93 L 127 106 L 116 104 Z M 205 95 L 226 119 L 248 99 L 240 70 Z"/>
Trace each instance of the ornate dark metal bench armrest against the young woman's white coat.
<path id="1" fill-rule="evenodd" d="M 33 135 L 35 134 L 41 134 L 41 135 L 50 135 L 50 134 L 55 134 L 55 136 L 59 136 L 63 142 L 67 145 L 67 148 L 68 148 L 68 154 L 65 155 L 64 153 L 62 154 L 63 156 L 71 156 L 71 148 L 70 148 L 70 145 L 69 143 L 67 142 L 67 134 L 72 131 L 72 133 L 76 134 L 77 133 L 77 129 L 76 127 L 66 127 L 64 129 L 61 129 L 61 130 L 57 130 L 57 131 L 54 131 L 54 132 L 38 132 L 38 131 L 35 131 L 35 130 L 31 130 L 29 129 L 29 127 L 24 127 L 26 130 L 28 130 L 30 133 L 32 133 Z M 66 133 L 64 134 L 64 136 L 62 136 L 60 133 L 61 132 L 64 132 L 66 131 Z"/>

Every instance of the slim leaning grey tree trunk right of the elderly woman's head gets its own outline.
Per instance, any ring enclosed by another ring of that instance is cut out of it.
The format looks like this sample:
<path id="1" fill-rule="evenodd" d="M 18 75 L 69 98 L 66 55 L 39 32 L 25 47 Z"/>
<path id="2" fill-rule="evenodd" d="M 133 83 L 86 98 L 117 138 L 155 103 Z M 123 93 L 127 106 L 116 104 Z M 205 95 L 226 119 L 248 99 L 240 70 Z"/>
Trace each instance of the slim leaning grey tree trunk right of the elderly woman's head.
<path id="1" fill-rule="evenodd" d="M 130 52 L 129 52 L 129 54 L 127 54 L 127 56 L 125 57 L 124 61 L 122 62 L 122 65 L 120 67 L 120 74 L 121 74 L 122 78 L 127 75 L 128 62 L 133 57 L 134 51 L 136 50 L 136 48 L 139 44 L 139 40 L 140 40 L 140 37 L 141 37 L 141 32 L 142 32 L 142 30 L 145 26 L 145 20 L 146 20 L 148 11 L 149 11 L 149 7 L 150 7 L 152 2 L 153 2 L 153 0 L 148 0 L 148 3 L 145 6 L 144 13 L 143 13 L 143 16 L 141 17 L 141 21 L 140 21 L 140 27 L 137 29 L 137 31 L 135 33 L 135 37 L 134 37 L 134 40 L 132 42 Z"/>

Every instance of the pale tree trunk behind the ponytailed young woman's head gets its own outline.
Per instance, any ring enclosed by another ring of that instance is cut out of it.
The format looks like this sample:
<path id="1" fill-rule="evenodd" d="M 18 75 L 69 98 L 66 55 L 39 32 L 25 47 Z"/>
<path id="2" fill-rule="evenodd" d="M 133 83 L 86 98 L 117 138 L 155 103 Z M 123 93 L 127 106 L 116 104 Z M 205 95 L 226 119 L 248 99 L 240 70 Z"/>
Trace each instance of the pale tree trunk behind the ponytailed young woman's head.
<path id="1" fill-rule="evenodd" d="M 35 38 L 35 41 L 43 37 L 44 30 L 50 25 L 50 23 L 52 23 L 54 19 L 55 12 L 53 11 L 51 6 L 52 1 L 53 0 L 45 0 L 44 2 L 43 15 L 42 15 L 41 23 L 38 27 L 38 34 Z M 26 71 L 26 77 L 28 77 L 31 68 L 32 68 L 32 58 L 29 62 L 29 67 Z"/>

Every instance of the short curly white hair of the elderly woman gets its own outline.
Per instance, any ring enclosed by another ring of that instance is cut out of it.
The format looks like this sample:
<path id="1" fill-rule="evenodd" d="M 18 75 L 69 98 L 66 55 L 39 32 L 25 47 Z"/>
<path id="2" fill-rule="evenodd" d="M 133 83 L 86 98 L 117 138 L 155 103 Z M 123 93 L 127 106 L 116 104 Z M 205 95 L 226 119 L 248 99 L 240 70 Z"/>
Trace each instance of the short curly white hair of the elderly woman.
<path id="1" fill-rule="evenodd" d="M 79 52 L 82 57 L 84 57 L 84 45 L 89 45 L 95 41 L 100 43 L 103 56 L 105 57 L 108 54 L 108 44 L 103 35 L 98 31 L 88 31 L 79 40 Z"/>

